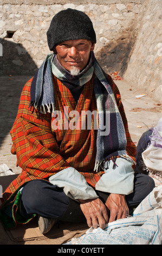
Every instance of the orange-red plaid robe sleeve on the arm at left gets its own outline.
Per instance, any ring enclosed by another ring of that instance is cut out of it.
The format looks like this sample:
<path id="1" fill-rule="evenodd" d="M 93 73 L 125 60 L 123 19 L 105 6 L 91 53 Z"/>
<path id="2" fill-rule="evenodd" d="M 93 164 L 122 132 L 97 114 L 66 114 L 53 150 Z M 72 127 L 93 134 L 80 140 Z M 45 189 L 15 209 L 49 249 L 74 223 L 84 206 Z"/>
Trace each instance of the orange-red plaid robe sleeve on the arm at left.
<path id="1" fill-rule="evenodd" d="M 41 114 L 37 109 L 32 113 L 29 109 L 31 81 L 23 88 L 17 118 L 10 132 L 11 153 L 17 155 L 17 166 L 30 175 L 48 179 L 69 164 L 59 155 L 59 147 L 51 133 L 51 115 Z"/>

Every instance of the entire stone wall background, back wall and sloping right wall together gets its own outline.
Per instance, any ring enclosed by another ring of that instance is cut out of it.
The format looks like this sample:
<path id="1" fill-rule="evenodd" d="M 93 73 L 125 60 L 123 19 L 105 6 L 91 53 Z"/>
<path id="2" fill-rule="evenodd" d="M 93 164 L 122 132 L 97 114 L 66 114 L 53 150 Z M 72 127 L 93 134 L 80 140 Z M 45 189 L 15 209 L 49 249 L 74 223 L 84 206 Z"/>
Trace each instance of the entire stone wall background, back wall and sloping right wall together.
<path id="1" fill-rule="evenodd" d="M 162 101 L 161 0 L 0 0 L 0 75 L 35 74 L 49 53 L 47 30 L 60 10 L 92 20 L 95 56 L 134 87 Z M 3 52 L 2 52 L 3 50 Z"/>

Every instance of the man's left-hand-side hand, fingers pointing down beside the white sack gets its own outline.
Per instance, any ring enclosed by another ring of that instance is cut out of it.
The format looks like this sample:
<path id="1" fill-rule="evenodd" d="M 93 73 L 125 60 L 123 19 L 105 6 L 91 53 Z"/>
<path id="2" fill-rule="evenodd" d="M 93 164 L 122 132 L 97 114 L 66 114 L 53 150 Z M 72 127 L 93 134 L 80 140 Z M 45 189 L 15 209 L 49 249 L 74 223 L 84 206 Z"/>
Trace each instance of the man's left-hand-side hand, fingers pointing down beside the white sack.
<path id="1" fill-rule="evenodd" d="M 106 206 L 99 198 L 79 200 L 80 208 L 87 219 L 88 227 L 97 228 L 98 224 L 100 228 L 105 228 L 105 224 L 108 223 L 108 215 Z"/>

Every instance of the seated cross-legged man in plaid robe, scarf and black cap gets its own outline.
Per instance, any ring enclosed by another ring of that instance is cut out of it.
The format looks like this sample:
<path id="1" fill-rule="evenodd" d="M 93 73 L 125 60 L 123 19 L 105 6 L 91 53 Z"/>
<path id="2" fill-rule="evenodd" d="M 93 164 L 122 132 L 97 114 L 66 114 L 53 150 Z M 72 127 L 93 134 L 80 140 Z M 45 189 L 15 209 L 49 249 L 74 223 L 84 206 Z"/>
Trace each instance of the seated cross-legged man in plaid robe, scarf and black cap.
<path id="1" fill-rule="evenodd" d="M 43 234 L 58 220 L 103 229 L 125 218 L 154 182 L 134 172 L 120 93 L 95 59 L 89 17 L 60 11 L 47 40 L 53 53 L 25 84 L 11 130 L 22 173 L 3 194 L 0 218 L 13 228 L 37 215 Z"/>

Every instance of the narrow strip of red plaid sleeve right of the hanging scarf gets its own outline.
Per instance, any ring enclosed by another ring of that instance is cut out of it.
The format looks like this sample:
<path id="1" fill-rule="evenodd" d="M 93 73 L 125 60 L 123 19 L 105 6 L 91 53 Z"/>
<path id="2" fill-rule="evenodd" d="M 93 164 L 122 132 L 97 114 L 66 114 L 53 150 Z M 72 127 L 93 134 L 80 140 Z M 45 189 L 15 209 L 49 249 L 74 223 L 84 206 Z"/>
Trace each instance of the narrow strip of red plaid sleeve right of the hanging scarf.
<path id="1" fill-rule="evenodd" d="M 118 105 L 118 108 L 119 108 L 119 112 L 121 114 L 121 118 L 122 118 L 122 121 L 124 123 L 124 127 L 125 127 L 125 132 L 126 132 L 126 139 L 127 139 L 127 146 L 126 146 L 126 151 L 127 151 L 127 154 L 129 156 L 132 157 L 132 159 L 135 161 L 135 155 L 136 155 L 136 146 L 135 144 L 133 143 L 132 139 L 131 139 L 131 136 L 129 134 L 129 130 L 128 130 L 128 122 L 127 122 L 127 118 L 126 118 L 126 114 L 125 114 L 125 111 L 124 111 L 124 106 L 122 105 L 122 101 L 121 101 L 121 95 L 120 95 L 120 92 L 119 92 L 119 89 L 118 87 L 116 86 L 116 84 L 114 83 L 114 81 L 112 80 L 112 77 L 108 75 L 108 80 L 109 80 L 109 83 L 112 87 L 112 90 L 113 90 L 113 93 L 115 95 L 115 100 L 116 100 L 116 103 Z"/>

